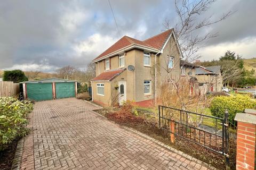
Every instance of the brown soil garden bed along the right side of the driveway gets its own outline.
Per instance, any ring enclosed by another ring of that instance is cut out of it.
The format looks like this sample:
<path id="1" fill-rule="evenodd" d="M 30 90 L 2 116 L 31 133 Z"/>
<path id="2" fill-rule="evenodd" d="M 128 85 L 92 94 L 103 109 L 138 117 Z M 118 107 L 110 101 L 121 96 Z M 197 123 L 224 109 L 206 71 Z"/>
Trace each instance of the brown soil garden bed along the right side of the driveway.
<path id="1" fill-rule="evenodd" d="M 186 154 L 202 160 L 203 162 L 212 165 L 218 169 L 225 169 L 225 157 L 223 157 L 222 155 L 216 154 L 215 152 L 207 150 L 204 147 L 198 146 L 195 143 L 191 143 L 185 139 L 181 139 L 178 137 L 175 138 L 174 144 L 171 143 L 170 133 L 158 128 L 155 116 L 149 115 L 148 113 L 146 113 L 145 115 L 142 111 L 139 111 L 138 116 L 130 114 L 129 118 L 126 118 L 125 121 L 123 121 L 120 120 L 120 117 L 122 119 L 123 116 L 119 116 L 122 112 L 122 109 L 100 109 L 96 112 L 102 114 L 103 116 L 107 117 L 111 121 L 114 121 L 115 123 L 127 126 L 129 128 L 133 128 L 141 133 L 145 133 L 151 138 L 154 138 L 158 141 L 165 143 L 166 145 L 185 152 Z M 113 112 L 118 112 L 119 117 L 113 116 Z M 230 140 L 230 146 L 230 166 L 231 169 L 235 169 L 236 152 L 232 148 L 235 148 L 236 145 L 233 140 Z"/>

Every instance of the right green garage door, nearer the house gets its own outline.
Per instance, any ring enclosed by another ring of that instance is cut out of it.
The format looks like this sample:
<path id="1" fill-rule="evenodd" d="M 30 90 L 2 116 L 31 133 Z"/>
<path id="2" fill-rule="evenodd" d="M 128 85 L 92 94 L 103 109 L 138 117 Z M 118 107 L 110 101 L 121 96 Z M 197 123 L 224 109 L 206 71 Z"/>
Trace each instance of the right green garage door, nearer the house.
<path id="1" fill-rule="evenodd" d="M 75 97 L 75 82 L 55 83 L 56 98 Z"/>

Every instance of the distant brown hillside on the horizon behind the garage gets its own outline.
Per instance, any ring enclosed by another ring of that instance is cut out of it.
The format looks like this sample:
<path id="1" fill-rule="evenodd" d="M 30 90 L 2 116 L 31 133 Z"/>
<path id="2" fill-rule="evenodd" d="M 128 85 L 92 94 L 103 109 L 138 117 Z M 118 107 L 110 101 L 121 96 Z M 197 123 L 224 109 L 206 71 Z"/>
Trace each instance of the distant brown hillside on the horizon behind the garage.
<path id="1" fill-rule="evenodd" d="M 0 71 L 0 78 L 3 77 L 4 71 Z M 47 79 L 47 78 L 54 78 L 55 74 L 53 73 L 44 73 L 44 72 L 32 72 L 32 71 L 25 71 L 24 72 L 28 80 L 38 80 L 38 79 Z"/>

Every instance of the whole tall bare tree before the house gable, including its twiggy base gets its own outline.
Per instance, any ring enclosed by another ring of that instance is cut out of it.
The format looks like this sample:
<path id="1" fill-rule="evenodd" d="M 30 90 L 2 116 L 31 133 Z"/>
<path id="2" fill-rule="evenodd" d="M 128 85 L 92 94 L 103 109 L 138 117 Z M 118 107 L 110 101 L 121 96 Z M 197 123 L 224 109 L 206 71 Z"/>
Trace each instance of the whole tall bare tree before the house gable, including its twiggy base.
<path id="1" fill-rule="evenodd" d="M 202 30 L 210 25 L 225 20 L 231 14 L 231 11 L 223 13 L 220 18 L 216 20 L 213 20 L 212 16 L 203 17 L 214 2 L 215 0 L 175 0 L 175 11 L 178 15 L 178 22 L 173 28 L 173 33 L 175 34 L 174 42 L 171 43 L 168 52 L 163 56 L 165 64 L 161 65 L 161 69 L 166 71 L 166 79 L 169 83 L 167 86 L 163 84 L 162 91 L 164 91 L 166 95 L 162 95 L 161 97 L 166 97 L 167 99 L 162 99 L 162 102 L 163 100 L 167 100 L 168 103 L 174 104 L 172 101 L 175 99 L 177 100 L 175 107 L 185 106 L 190 109 L 195 109 L 194 111 L 197 113 L 202 112 L 204 108 L 208 106 L 209 99 L 207 99 L 206 96 L 202 96 L 200 92 L 196 90 L 193 94 L 191 94 L 190 90 L 185 94 L 181 92 L 184 91 L 184 87 L 188 89 L 197 88 L 197 83 L 194 81 L 191 82 L 190 79 L 184 82 L 181 76 L 177 76 L 180 75 L 180 73 L 177 73 L 177 70 L 180 69 L 170 69 L 169 61 L 172 60 L 171 56 L 174 56 L 177 52 L 177 44 L 180 46 L 183 60 L 187 62 L 197 60 L 200 57 L 198 50 L 203 46 L 204 41 L 217 36 L 215 32 L 204 33 L 205 31 Z M 166 29 L 170 29 L 171 22 L 166 19 L 164 26 Z M 180 67 L 180 62 L 174 62 L 173 64 L 173 67 Z M 191 80 L 193 80 L 193 78 Z M 168 92 L 168 95 L 166 92 Z M 168 96 L 172 97 L 171 100 L 168 100 Z"/>

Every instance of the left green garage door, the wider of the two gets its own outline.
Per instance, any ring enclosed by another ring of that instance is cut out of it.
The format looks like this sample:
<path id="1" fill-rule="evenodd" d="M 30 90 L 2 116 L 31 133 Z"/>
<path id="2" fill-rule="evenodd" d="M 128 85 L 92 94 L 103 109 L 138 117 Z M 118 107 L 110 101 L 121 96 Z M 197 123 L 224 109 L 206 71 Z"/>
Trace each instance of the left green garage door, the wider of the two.
<path id="1" fill-rule="evenodd" d="M 33 100 L 51 100 L 52 83 L 27 83 L 27 95 Z"/>

